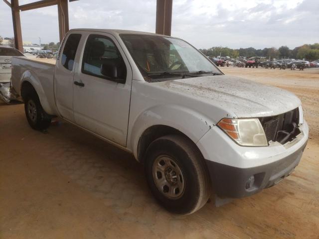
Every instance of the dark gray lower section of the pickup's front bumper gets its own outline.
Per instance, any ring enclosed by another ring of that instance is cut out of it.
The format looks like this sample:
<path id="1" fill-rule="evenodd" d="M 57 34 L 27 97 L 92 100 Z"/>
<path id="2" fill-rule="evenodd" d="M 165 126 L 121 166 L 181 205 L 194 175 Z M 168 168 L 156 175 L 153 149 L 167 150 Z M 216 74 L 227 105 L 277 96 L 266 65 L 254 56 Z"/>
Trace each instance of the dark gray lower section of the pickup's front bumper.
<path id="1" fill-rule="evenodd" d="M 219 197 L 241 198 L 274 186 L 299 164 L 306 145 L 307 142 L 285 158 L 253 168 L 237 168 L 206 160 L 213 189 Z"/>

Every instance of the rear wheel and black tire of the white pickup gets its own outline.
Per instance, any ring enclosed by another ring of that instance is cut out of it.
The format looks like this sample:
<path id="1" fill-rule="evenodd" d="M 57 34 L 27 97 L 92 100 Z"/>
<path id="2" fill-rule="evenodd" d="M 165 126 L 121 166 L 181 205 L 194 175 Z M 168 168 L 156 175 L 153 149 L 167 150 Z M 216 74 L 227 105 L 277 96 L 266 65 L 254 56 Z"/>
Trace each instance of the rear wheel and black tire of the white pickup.
<path id="1" fill-rule="evenodd" d="M 27 94 L 24 98 L 24 111 L 29 125 L 36 130 L 44 130 L 50 126 L 51 117 L 48 116 L 35 92 Z"/>

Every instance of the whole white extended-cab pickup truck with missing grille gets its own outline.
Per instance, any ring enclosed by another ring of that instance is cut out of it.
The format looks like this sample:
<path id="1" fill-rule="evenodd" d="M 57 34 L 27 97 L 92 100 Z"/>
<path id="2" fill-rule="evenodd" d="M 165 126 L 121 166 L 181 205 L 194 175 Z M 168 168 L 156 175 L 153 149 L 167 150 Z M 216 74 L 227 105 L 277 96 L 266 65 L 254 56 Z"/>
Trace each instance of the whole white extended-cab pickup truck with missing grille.
<path id="1" fill-rule="evenodd" d="M 275 185 L 308 141 L 294 94 L 226 76 L 170 36 L 73 29 L 55 65 L 12 58 L 11 82 L 32 128 L 60 117 L 132 152 L 155 198 L 179 214 Z"/>

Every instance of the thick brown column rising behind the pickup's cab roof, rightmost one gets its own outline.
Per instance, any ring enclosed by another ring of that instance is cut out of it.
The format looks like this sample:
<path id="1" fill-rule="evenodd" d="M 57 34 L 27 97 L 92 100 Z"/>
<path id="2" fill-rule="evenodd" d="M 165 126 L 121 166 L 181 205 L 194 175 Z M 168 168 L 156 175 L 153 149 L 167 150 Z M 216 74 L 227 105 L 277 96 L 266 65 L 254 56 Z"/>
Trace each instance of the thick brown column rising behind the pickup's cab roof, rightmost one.
<path id="1" fill-rule="evenodd" d="M 157 0 L 156 33 L 170 36 L 172 4 L 172 0 Z"/>

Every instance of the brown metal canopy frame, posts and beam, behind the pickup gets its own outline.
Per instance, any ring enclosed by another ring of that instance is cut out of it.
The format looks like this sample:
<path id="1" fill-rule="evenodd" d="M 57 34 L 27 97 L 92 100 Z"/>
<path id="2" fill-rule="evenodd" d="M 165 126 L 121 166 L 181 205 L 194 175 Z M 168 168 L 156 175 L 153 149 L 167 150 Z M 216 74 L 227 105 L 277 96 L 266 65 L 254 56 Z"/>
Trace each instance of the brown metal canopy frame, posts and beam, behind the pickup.
<path id="1" fill-rule="evenodd" d="M 69 11 L 68 0 L 40 0 L 23 5 L 19 5 L 19 0 L 3 0 L 12 12 L 12 23 L 14 33 L 15 48 L 23 52 L 22 32 L 20 22 L 20 11 L 32 10 L 36 8 L 57 5 L 59 19 L 60 42 L 65 34 L 69 31 Z M 76 1 L 76 0 L 69 0 Z M 156 6 L 156 33 L 170 36 L 171 31 L 171 14 L 173 0 L 157 0 Z"/>

